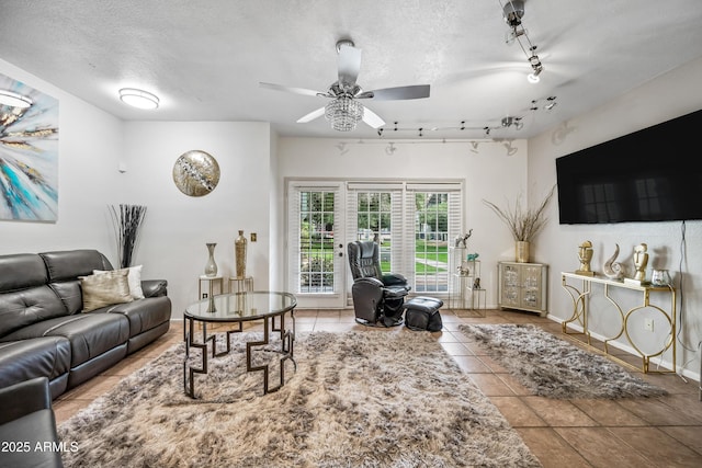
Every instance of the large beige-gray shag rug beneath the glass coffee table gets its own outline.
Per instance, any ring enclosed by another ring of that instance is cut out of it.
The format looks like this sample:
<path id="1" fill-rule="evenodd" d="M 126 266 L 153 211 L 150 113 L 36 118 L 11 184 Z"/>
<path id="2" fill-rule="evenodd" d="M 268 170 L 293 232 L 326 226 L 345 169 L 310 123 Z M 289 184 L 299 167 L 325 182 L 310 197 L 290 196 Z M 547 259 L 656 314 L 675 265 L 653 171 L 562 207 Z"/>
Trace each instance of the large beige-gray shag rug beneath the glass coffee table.
<path id="1" fill-rule="evenodd" d="M 182 344 L 123 379 L 60 424 L 78 445 L 66 467 L 541 466 L 429 333 L 299 333 L 297 369 L 267 396 L 240 336 L 233 347 L 195 376 L 197 400 Z"/>

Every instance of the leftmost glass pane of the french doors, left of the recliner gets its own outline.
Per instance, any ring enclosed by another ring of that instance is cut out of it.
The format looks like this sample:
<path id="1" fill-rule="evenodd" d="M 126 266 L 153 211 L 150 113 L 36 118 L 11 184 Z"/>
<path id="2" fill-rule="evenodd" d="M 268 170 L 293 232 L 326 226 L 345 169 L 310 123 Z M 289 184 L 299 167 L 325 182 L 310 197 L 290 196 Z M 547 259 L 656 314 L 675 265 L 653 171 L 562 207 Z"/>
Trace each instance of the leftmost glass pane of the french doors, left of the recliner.
<path id="1" fill-rule="evenodd" d="M 333 293 L 333 192 L 299 193 L 299 293 Z"/>

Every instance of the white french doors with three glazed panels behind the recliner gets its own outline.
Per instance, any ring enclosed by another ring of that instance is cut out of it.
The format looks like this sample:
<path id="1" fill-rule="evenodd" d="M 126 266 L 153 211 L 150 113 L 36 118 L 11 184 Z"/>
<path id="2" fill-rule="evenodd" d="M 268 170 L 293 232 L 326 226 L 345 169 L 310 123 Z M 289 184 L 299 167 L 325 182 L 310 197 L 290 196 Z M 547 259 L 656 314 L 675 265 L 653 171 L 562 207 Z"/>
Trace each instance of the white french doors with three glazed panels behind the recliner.
<path id="1" fill-rule="evenodd" d="M 301 307 L 347 306 L 347 244 L 374 240 L 383 273 L 401 273 L 417 294 L 448 294 L 449 243 L 461 232 L 455 182 L 287 183 L 287 290 Z"/>

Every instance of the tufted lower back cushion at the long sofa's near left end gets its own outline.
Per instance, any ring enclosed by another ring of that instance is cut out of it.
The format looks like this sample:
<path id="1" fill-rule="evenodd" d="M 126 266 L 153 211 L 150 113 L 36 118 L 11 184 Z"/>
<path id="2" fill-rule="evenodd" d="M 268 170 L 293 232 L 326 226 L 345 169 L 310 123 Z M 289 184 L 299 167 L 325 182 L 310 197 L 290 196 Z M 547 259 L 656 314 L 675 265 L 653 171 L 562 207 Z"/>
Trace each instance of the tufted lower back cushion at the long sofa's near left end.
<path id="1" fill-rule="evenodd" d="M 0 294 L 0 336 L 67 315 L 64 303 L 46 285 Z"/>

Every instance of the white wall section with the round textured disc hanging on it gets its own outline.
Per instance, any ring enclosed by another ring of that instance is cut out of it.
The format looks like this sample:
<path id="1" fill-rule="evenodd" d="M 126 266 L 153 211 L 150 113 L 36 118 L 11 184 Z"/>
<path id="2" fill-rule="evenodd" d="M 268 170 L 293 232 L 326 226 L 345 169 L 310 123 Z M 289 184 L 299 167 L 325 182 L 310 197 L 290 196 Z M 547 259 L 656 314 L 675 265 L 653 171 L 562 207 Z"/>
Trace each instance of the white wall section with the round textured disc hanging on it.
<path id="1" fill-rule="evenodd" d="M 234 240 L 239 229 L 249 239 L 247 275 L 253 276 L 257 289 L 268 289 L 273 190 L 270 125 L 128 122 L 124 140 L 127 171 L 121 174 L 120 202 L 147 206 L 134 264 L 144 264 L 144 277 L 168 279 L 173 318 L 182 318 L 184 308 L 197 299 L 197 278 L 207 261 L 205 243 L 217 243 L 215 261 L 225 283 L 234 275 Z M 222 174 L 215 190 L 201 197 L 180 192 L 172 176 L 176 160 L 195 149 L 212 155 Z M 257 242 L 250 241 L 251 232 L 258 235 Z"/>

